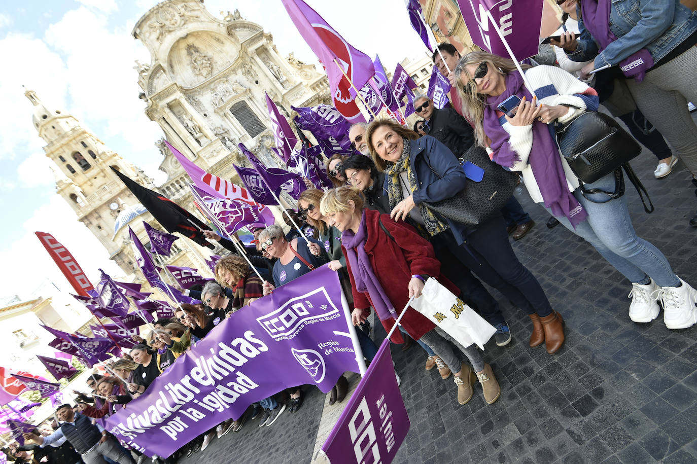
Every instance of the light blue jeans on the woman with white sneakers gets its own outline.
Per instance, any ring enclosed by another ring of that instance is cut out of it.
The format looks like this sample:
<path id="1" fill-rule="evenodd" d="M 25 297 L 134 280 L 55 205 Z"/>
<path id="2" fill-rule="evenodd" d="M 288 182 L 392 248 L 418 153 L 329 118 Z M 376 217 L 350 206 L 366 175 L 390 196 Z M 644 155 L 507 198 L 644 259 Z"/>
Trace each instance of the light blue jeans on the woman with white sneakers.
<path id="1" fill-rule="evenodd" d="M 594 183 L 585 184 L 585 188 L 613 192 L 615 177 L 610 173 Z M 627 188 L 630 188 L 629 185 Z M 588 201 L 580 189 L 574 190 L 574 196 L 588 212 L 588 219 L 574 230 L 567 217 L 556 216 L 569 231 L 593 245 L 608 263 L 631 282 L 643 281 L 648 276 L 661 287 L 680 285 L 680 280 L 671 269 L 666 256 L 654 245 L 636 236 L 624 196 L 607 203 Z M 606 194 L 601 193 L 588 196 L 596 201 L 608 199 Z M 551 212 L 549 208 L 546 209 Z"/>

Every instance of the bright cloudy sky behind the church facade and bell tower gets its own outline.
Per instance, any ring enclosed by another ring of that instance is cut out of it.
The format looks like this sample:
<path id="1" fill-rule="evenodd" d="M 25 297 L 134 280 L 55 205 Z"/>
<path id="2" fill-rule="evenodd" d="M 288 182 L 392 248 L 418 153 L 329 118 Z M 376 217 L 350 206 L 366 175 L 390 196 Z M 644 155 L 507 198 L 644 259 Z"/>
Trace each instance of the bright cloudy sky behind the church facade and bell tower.
<path id="1" fill-rule="evenodd" d="M 427 53 L 411 29 L 404 0 L 306 1 L 351 45 L 371 56 L 380 54 L 388 72 L 406 57 L 420 59 Z M 144 169 L 160 185 L 166 176 L 158 170 L 162 156 L 154 143 L 162 131 L 144 114 L 133 69 L 135 60 L 150 63 L 151 59 L 130 34 L 155 4 L 153 0 L 1 3 L 0 297 L 46 297 L 56 288 L 71 291 L 34 231 L 52 233 L 94 284 L 98 268 L 114 277 L 123 274 L 56 194 L 52 161 L 33 128 L 33 106 L 22 86 L 36 91 L 49 109 L 75 116 L 107 148 Z M 221 11 L 237 8 L 243 18 L 273 34 L 282 56 L 294 52 L 300 61 L 316 63 L 281 0 L 206 0 L 204 6 L 218 18 Z"/>

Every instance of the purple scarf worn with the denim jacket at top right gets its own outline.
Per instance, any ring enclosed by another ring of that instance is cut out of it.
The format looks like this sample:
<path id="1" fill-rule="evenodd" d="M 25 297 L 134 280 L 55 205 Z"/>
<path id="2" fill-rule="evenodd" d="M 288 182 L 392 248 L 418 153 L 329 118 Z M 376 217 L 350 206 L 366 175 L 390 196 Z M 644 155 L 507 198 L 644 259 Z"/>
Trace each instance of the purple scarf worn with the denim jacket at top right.
<path id="1" fill-rule="evenodd" d="M 606 49 L 611 42 L 617 40 L 609 26 L 610 8 L 612 8 L 610 0 L 581 0 L 583 26 L 598 41 L 602 49 Z M 653 57 L 645 48 L 620 61 L 620 69 L 625 76 L 634 77 L 636 82 L 643 81 L 646 71 L 653 65 Z"/>

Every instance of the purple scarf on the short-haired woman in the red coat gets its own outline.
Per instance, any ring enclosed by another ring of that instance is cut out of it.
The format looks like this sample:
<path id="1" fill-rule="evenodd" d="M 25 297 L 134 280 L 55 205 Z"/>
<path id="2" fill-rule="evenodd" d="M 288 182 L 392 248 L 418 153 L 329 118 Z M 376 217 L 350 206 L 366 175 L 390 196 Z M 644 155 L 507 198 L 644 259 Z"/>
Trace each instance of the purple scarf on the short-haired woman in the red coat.
<path id="1" fill-rule="evenodd" d="M 367 227 L 365 224 L 365 210 L 360 217 L 358 232 L 353 233 L 351 229 L 346 229 L 342 233 L 342 245 L 346 248 L 346 258 L 351 265 L 351 274 L 355 282 L 355 289 L 362 293 L 368 293 L 373 303 L 375 312 L 380 320 L 397 318 L 397 311 L 390 302 L 388 295 L 385 295 L 383 286 L 373 272 L 370 265 L 368 254 L 365 252 L 365 242 L 368 238 Z"/>

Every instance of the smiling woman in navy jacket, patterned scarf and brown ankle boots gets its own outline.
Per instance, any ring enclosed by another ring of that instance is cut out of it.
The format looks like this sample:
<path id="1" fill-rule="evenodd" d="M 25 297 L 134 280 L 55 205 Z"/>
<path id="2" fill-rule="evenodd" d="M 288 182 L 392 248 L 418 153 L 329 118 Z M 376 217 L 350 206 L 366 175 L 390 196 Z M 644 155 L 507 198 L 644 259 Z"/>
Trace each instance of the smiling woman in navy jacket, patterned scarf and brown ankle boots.
<path id="1" fill-rule="evenodd" d="M 386 174 L 390 216 L 411 219 L 421 230 L 426 229 L 434 248 L 449 248 L 483 281 L 526 311 L 533 320 L 530 346 L 544 341 L 547 352 L 556 353 L 564 343 L 562 317 L 513 252 L 503 215 L 497 213 L 473 230 L 427 206 L 466 188 L 465 173 L 452 151 L 434 137 L 419 138 L 413 130 L 391 120 L 370 123 L 366 137 L 376 166 Z"/>

